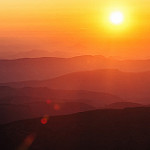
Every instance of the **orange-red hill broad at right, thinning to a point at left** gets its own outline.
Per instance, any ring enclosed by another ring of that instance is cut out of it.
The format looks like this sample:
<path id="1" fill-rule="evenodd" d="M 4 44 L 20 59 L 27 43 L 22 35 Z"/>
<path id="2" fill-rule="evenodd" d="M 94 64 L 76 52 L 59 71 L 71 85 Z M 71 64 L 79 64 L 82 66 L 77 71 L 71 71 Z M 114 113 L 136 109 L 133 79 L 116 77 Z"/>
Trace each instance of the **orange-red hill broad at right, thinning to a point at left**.
<path id="1" fill-rule="evenodd" d="M 5 84 L 12 87 L 37 86 L 65 90 L 88 90 L 111 93 L 125 99 L 150 97 L 150 72 L 122 72 L 105 69 L 66 74 L 44 81 Z"/>

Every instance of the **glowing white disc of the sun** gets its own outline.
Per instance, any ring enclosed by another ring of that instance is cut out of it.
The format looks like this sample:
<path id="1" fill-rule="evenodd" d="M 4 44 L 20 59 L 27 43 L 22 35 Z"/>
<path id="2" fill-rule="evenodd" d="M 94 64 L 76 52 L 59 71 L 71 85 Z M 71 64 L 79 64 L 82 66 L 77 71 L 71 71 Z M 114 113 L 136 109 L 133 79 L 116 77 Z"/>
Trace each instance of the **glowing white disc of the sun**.
<path id="1" fill-rule="evenodd" d="M 110 14 L 110 22 L 114 25 L 120 25 L 124 21 L 124 15 L 120 11 L 115 11 Z"/>

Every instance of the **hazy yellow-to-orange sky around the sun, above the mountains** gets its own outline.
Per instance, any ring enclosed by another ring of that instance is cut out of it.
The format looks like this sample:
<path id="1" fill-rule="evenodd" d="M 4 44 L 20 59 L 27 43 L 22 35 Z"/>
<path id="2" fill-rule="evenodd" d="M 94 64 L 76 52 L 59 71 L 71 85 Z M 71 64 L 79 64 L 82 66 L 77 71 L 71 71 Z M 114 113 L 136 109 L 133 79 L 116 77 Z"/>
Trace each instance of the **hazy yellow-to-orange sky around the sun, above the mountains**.
<path id="1" fill-rule="evenodd" d="M 108 21 L 123 12 L 123 25 Z M 149 0 L 5 0 L 0 52 L 43 49 L 150 58 Z"/>

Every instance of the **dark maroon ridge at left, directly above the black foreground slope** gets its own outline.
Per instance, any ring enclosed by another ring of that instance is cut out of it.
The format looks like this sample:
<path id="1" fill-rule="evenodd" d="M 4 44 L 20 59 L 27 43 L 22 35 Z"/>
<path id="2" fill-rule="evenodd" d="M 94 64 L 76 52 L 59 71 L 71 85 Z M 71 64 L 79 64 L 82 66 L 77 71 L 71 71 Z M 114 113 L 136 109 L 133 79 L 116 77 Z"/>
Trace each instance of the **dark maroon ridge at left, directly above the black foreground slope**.
<path id="1" fill-rule="evenodd" d="M 34 102 L 28 104 L 0 104 L 0 124 L 17 120 L 43 117 L 45 115 L 65 115 L 94 109 L 96 108 L 80 102 L 51 102 L 50 104 L 47 104 L 46 102 Z"/>

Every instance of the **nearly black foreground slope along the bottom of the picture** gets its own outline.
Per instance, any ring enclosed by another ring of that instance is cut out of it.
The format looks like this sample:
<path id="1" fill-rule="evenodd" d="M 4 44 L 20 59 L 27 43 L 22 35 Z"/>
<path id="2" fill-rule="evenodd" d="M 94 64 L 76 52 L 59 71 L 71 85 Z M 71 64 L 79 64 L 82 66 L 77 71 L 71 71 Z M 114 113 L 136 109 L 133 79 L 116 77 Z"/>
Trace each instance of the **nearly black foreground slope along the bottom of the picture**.
<path id="1" fill-rule="evenodd" d="M 150 108 L 96 110 L 1 126 L 5 150 L 148 150 Z"/>

